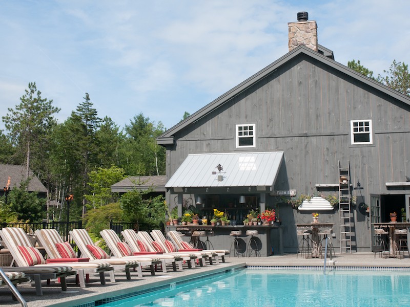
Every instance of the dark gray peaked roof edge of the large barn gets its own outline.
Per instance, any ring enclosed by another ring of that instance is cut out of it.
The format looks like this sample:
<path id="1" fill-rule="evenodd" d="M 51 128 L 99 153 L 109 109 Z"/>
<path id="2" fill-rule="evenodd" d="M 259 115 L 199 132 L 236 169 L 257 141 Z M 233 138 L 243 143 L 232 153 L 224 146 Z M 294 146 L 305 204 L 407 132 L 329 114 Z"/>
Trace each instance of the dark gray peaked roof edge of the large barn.
<path id="1" fill-rule="evenodd" d="M 322 46 L 321 46 L 322 47 Z M 322 47 L 322 50 L 325 51 L 325 48 Z M 204 116 L 210 114 L 213 112 L 215 109 L 223 105 L 224 103 L 228 102 L 230 99 L 233 97 L 239 95 L 243 91 L 249 89 L 249 87 L 253 86 L 263 78 L 267 77 L 268 75 L 274 73 L 279 67 L 281 67 L 283 64 L 286 62 L 289 62 L 296 57 L 300 55 L 306 55 L 309 56 L 337 71 L 339 71 L 342 74 L 345 74 L 347 76 L 352 77 L 353 79 L 356 79 L 362 83 L 367 84 L 368 86 L 373 87 L 373 89 L 380 91 L 381 93 L 384 93 L 388 96 L 391 96 L 399 101 L 402 101 L 403 103 L 407 104 L 410 106 L 410 98 L 407 97 L 406 95 L 403 95 L 395 90 L 393 90 L 391 87 L 388 87 L 386 85 L 381 84 L 380 82 L 377 82 L 371 78 L 368 78 L 350 68 L 348 68 L 345 65 L 342 65 L 333 59 L 329 57 L 329 53 L 331 52 L 329 49 L 326 49 L 325 55 L 322 55 L 318 52 L 313 51 L 312 49 L 305 47 L 303 45 L 295 48 L 291 52 L 286 53 L 284 56 L 270 64 L 269 66 L 265 67 L 261 71 L 257 72 L 247 80 L 241 82 L 237 86 L 235 86 L 232 90 L 226 92 L 225 94 L 219 96 L 217 99 L 212 101 L 211 103 L 207 104 L 206 106 L 202 107 L 199 109 L 199 111 L 195 112 L 192 114 L 190 117 L 187 119 L 181 121 L 180 123 L 176 124 L 172 128 L 168 129 L 165 131 L 165 133 L 161 134 L 157 138 L 157 143 L 160 145 L 172 145 L 174 144 L 174 135 L 178 133 L 178 131 L 182 130 L 183 128 L 189 126 L 190 124 L 200 120 Z M 333 52 L 332 52 L 333 53 Z M 326 56 L 328 55 L 328 56 Z"/>

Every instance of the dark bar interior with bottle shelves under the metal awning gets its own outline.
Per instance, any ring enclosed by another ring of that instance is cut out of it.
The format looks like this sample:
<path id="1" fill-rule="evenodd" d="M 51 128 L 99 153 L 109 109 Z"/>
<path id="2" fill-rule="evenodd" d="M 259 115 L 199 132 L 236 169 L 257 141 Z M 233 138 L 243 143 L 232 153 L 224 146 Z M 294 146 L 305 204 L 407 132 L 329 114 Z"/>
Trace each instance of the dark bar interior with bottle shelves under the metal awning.
<path id="1" fill-rule="evenodd" d="M 200 217 L 206 217 L 208 221 L 214 215 L 214 209 L 229 214 L 230 225 L 243 225 L 249 211 L 259 212 L 258 197 L 256 195 L 245 195 L 244 203 L 239 203 L 240 195 L 207 195 L 200 209 Z M 242 199 L 243 200 L 243 199 Z"/>

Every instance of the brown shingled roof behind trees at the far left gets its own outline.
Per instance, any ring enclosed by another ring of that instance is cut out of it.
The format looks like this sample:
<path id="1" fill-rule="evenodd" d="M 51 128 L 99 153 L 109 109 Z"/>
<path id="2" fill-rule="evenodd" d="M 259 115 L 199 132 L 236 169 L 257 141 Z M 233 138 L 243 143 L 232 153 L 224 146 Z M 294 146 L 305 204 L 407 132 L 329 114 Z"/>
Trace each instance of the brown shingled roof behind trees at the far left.
<path id="1" fill-rule="evenodd" d="M 26 167 L 23 165 L 0 164 L 0 187 L 5 187 L 7 185 L 9 177 L 10 189 L 20 187 L 20 183 L 26 180 Z M 31 170 L 29 177 L 31 178 L 28 186 L 29 192 L 47 192 L 46 187 Z"/>

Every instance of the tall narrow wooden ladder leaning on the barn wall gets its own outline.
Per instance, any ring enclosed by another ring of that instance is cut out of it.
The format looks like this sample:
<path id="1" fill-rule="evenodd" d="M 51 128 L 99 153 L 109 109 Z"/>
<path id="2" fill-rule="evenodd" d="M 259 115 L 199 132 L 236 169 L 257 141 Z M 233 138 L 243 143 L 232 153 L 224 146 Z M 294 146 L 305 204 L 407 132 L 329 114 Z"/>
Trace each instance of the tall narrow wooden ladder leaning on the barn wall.
<path id="1" fill-rule="evenodd" d="M 339 161 L 339 218 L 340 218 L 340 253 L 352 253 L 352 225 L 354 222 L 351 210 L 350 163 L 341 167 Z"/>

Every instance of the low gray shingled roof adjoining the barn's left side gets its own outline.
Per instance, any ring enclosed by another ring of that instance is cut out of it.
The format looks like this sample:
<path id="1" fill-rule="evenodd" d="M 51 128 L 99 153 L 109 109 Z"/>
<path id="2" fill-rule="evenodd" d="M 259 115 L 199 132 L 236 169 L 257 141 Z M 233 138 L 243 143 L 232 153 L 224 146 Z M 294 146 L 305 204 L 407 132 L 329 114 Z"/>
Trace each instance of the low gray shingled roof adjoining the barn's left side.
<path id="1" fill-rule="evenodd" d="M 135 188 L 148 190 L 152 188 L 155 192 L 166 192 L 165 175 L 160 176 L 131 176 L 123 179 L 111 186 L 111 192 L 125 193 Z"/>

